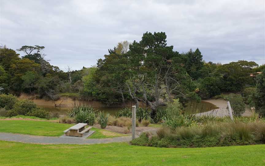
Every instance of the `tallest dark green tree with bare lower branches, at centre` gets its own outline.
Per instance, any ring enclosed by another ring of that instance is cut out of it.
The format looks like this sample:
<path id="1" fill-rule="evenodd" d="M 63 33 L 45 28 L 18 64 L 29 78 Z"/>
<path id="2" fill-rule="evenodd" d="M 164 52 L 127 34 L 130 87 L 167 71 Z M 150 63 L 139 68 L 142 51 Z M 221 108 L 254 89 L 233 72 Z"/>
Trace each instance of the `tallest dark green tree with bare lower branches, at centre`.
<path id="1" fill-rule="evenodd" d="M 130 45 L 127 53 L 129 94 L 137 106 L 139 101 L 146 103 L 153 115 L 159 106 L 166 105 L 167 100 L 174 97 L 173 92 L 180 92 L 175 79 L 182 74 L 178 73 L 179 53 L 173 51 L 173 46 L 167 46 L 166 38 L 164 32 L 146 32 L 140 42 Z"/>

